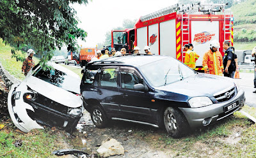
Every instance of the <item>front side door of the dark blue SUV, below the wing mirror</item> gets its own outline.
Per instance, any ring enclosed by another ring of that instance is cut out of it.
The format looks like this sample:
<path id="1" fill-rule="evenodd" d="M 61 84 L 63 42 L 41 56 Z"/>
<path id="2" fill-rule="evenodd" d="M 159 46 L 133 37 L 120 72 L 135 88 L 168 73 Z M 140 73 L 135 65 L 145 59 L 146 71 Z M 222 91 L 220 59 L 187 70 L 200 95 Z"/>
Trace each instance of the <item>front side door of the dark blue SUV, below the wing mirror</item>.
<path id="1" fill-rule="evenodd" d="M 120 68 L 120 105 L 122 117 L 149 123 L 156 123 L 157 106 L 154 104 L 154 93 L 150 92 L 140 73 L 130 67 Z M 145 90 L 134 90 L 134 85 L 141 83 Z M 153 99 L 153 100 L 152 100 Z"/>

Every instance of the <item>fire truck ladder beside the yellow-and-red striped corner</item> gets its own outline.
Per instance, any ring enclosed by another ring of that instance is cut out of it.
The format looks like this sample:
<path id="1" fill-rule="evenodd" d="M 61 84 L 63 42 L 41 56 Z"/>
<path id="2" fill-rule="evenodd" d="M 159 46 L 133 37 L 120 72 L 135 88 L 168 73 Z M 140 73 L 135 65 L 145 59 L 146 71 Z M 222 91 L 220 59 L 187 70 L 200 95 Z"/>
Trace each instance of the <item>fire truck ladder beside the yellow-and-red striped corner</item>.
<path id="1" fill-rule="evenodd" d="M 186 24 L 186 22 L 188 22 L 188 24 Z M 181 45 L 182 47 L 185 44 L 189 43 L 189 14 L 182 14 L 181 15 L 181 36 L 182 36 L 182 42 Z M 184 40 L 186 39 L 186 40 Z M 184 54 L 182 52 L 182 62 L 184 62 Z"/>

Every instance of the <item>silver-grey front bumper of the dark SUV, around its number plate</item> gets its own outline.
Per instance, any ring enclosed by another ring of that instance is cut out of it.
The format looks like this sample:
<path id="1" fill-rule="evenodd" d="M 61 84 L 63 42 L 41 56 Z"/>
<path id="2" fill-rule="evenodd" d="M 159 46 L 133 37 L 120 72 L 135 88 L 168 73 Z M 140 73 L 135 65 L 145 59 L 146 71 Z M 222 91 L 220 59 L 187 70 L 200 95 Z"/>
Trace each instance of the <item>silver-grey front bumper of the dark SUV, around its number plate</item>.
<path id="1" fill-rule="evenodd" d="M 202 108 L 179 108 L 188 120 L 190 127 L 204 127 L 216 123 L 218 120 L 224 119 L 232 115 L 244 106 L 245 97 L 244 90 L 239 90 L 237 95 L 223 103 L 211 104 Z M 224 108 L 232 103 L 238 103 L 238 106 L 225 112 Z"/>

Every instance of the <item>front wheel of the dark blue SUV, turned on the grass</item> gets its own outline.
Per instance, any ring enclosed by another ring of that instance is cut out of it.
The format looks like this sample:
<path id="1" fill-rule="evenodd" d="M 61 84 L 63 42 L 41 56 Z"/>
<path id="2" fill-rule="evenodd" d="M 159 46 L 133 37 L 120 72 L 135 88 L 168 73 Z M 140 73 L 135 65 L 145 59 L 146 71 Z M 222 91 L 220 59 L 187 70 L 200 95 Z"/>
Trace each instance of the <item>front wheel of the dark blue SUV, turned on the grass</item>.
<path id="1" fill-rule="evenodd" d="M 188 131 L 188 122 L 183 113 L 172 107 L 168 107 L 164 110 L 164 127 L 168 134 L 173 138 L 180 138 Z"/>

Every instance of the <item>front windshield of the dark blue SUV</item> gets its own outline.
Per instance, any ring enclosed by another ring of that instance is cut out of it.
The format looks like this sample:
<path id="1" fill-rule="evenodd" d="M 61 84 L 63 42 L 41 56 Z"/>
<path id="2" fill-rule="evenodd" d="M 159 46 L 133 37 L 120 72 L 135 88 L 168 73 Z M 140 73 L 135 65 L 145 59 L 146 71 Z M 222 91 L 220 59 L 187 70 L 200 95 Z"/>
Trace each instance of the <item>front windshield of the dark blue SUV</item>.
<path id="1" fill-rule="evenodd" d="M 195 71 L 172 57 L 145 64 L 140 67 L 140 71 L 147 81 L 156 87 L 195 75 Z"/>

